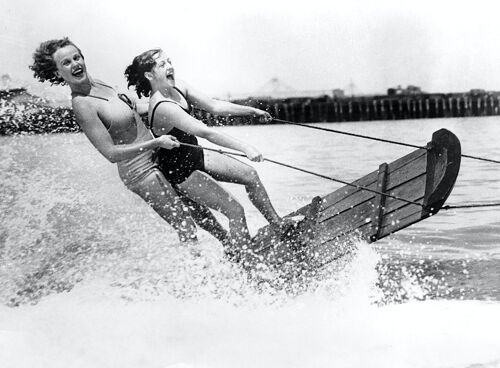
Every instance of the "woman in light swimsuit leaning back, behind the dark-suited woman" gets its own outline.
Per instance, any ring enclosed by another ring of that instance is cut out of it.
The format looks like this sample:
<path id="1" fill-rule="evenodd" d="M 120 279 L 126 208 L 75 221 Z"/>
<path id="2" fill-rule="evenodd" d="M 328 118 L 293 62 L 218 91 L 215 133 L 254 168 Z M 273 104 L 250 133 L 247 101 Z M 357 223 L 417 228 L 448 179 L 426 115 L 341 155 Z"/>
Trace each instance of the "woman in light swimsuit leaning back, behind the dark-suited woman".
<path id="1" fill-rule="evenodd" d="M 194 219 L 221 241 L 224 228 L 210 210 L 181 198 L 153 160 L 157 149 L 179 147 L 171 135 L 153 137 L 131 101 L 112 87 L 87 73 L 80 49 L 67 37 L 40 44 L 30 66 L 41 82 L 67 84 L 71 89 L 76 121 L 95 148 L 117 163 L 120 178 L 128 189 L 143 198 L 177 231 L 181 241 L 196 240 Z"/>

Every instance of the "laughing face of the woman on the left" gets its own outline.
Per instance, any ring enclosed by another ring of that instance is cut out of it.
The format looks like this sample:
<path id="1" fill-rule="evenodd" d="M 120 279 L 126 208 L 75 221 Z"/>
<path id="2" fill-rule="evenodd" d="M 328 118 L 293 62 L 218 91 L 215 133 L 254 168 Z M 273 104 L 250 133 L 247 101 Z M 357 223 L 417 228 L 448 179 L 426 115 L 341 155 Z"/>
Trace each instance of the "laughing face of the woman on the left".
<path id="1" fill-rule="evenodd" d="M 56 63 L 58 75 L 69 85 L 88 79 L 85 61 L 75 46 L 61 47 L 52 54 L 52 58 Z"/>

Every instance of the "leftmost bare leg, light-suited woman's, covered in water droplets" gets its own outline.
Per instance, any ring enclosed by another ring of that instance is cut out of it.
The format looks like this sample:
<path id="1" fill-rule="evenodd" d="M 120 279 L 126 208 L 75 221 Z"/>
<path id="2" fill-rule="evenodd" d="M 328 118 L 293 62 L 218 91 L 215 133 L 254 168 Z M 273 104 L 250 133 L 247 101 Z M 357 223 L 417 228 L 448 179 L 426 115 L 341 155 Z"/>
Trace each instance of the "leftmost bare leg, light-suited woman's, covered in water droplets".
<path id="1" fill-rule="evenodd" d="M 165 221 L 177 231 L 180 241 L 197 240 L 196 225 L 189 209 L 160 171 L 153 171 L 140 183 L 130 188 L 144 199 Z"/>

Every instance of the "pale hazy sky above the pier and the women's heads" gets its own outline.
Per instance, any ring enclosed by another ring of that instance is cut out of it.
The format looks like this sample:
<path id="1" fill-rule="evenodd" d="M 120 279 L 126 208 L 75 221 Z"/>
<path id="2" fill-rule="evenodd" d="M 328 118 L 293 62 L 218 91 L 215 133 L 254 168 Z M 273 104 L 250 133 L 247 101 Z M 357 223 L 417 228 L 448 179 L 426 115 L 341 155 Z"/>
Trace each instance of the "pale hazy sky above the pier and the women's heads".
<path id="1" fill-rule="evenodd" d="M 272 78 L 296 91 L 498 91 L 499 10 L 482 0 L 0 0 L 0 74 L 35 83 L 35 48 L 68 36 L 90 74 L 120 89 L 133 57 L 160 47 L 178 78 L 215 97 Z"/>

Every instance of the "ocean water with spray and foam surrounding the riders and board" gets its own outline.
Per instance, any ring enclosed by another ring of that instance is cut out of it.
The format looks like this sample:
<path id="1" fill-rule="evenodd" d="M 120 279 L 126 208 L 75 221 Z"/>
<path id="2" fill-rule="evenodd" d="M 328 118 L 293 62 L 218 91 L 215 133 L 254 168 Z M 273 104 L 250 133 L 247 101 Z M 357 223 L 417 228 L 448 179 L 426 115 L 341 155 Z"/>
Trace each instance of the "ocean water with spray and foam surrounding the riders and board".
<path id="1" fill-rule="evenodd" d="M 497 117 L 319 125 L 419 145 L 447 128 L 463 153 L 500 159 Z M 287 125 L 218 129 L 343 180 L 411 151 Z M 339 187 L 254 165 L 280 214 Z M 226 186 L 255 233 L 265 220 Z M 2 368 L 500 367 L 498 207 L 357 242 L 280 288 L 248 279 L 202 231 L 179 244 L 81 134 L 0 137 L 0 187 Z M 499 165 L 464 158 L 447 204 L 489 202 Z"/>

